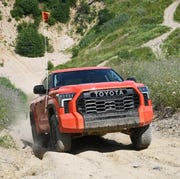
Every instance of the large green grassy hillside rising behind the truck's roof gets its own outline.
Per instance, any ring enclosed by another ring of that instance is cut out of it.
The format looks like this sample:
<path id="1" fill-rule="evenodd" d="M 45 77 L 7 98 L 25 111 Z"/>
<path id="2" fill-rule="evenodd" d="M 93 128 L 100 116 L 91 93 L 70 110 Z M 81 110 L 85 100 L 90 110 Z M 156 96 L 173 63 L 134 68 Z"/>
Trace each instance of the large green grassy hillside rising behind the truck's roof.
<path id="1" fill-rule="evenodd" d="M 141 60 L 154 60 L 155 55 L 141 50 L 141 46 L 170 30 L 160 23 L 163 22 L 164 9 L 172 2 L 105 0 L 106 8 L 114 14 L 113 18 L 93 27 L 73 48 L 73 60 L 56 68 L 96 66 L 116 56 L 129 60 L 132 54 Z"/>

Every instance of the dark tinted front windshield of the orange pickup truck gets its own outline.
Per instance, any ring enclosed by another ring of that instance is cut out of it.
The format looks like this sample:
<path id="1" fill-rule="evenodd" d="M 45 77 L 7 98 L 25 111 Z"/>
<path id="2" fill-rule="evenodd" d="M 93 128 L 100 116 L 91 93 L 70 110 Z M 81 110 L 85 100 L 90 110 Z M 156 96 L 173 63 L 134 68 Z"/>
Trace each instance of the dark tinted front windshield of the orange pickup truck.
<path id="1" fill-rule="evenodd" d="M 121 82 L 123 79 L 112 69 L 68 71 L 54 74 L 54 87 L 84 83 Z"/>

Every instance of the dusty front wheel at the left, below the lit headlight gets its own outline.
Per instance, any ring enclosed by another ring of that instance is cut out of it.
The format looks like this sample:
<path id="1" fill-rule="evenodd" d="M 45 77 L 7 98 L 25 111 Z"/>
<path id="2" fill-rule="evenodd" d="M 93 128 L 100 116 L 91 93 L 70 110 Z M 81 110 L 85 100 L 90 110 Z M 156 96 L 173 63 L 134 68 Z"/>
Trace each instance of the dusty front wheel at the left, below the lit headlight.
<path id="1" fill-rule="evenodd" d="M 71 149 L 71 135 L 59 131 L 55 115 L 50 119 L 50 147 L 57 152 L 67 152 Z"/>

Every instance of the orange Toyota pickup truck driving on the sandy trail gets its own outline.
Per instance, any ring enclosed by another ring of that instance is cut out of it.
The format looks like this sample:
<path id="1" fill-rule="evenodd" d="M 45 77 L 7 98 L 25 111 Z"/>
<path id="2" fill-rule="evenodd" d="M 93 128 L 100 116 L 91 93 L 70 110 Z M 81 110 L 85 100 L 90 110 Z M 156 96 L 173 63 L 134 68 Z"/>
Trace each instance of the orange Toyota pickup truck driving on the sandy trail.
<path id="1" fill-rule="evenodd" d="M 33 92 L 38 96 L 30 104 L 30 123 L 39 145 L 66 152 L 75 136 L 111 132 L 128 134 L 137 150 L 151 143 L 148 87 L 110 67 L 55 70 Z"/>

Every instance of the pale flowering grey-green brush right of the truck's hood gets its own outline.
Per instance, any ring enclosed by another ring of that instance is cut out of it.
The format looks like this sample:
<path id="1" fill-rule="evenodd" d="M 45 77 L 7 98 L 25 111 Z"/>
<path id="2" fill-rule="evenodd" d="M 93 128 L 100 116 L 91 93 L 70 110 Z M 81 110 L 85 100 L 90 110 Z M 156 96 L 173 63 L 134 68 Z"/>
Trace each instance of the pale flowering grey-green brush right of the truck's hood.
<path id="1" fill-rule="evenodd" d="M 112 60 L 108 65 L 124 78 L 135 76 L 146 84 L 151 92 L 155 109 L 166 106 L 180 108 L 180 65 L 178 58 L 156 61 Z"/>

